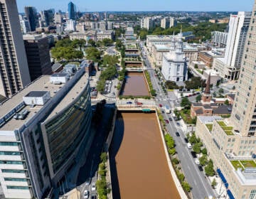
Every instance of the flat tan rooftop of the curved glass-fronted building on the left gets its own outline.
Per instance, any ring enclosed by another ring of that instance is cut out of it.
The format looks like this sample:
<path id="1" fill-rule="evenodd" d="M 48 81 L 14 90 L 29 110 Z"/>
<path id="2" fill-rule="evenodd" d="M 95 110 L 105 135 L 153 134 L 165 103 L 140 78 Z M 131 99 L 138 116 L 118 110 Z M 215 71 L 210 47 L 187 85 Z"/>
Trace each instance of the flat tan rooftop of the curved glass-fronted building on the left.
<path id="1" fill-rule="evenodd" d="M 60 109 L 63 109 L 72 102 L 75 97 L 77 97 L 80 94 L 81 87 L 85 85 L 85 82 L 87 82 L 87 73 L 85 75 L 82 75 L 78 82 L 76 82 L 75 86 L 73 86 L 67 95 L 62 99 L 62 101 L 59 102 L 58 106 L 55 107 L 55 109 L 52 111 L 52 113 L 55 114 L 55 112 L 59 112 Z M 72 79 L 71 79 L 72 80 Z M 68 82 L 66 83 L 68 84 Z M 24 96 L 31 96 L 31 95 L 41 95 L 43 92 L 50 92 L 50 98 L 54 97 L 63 85 L 54 85 L 50 83 L 50 75 L 43 75 L 39 77 L 36 81 L 31 82 L 31 84 L 27 85 L 23 90 L 19 91 L 11 97 L 10 99 L 6 100 L 3 104 L 0 105 L 0 120 L 6 114 L 9 114 L 12 110 L 14 110 L 18 104 L 23 103 L 23 97 Z M 9 117 L 8 120 L 6 120 L 5 124 L 2 126 L 0 125 L 0 131 L 14 131 L 14 129 L 19 129 L 22 127 L 23 124 L 28 122 L 30 119 L 32 119 L 36 113 L 41 110 L 44 106 L 36 105 L 34 107 L 31 107 L 29 105 L 23 104 L 22 110 L 27 109 L 28 114 L 25 119 L 14 119 L 14 117 Z M 19 111 L 21 112 L 21 110 Z"/>

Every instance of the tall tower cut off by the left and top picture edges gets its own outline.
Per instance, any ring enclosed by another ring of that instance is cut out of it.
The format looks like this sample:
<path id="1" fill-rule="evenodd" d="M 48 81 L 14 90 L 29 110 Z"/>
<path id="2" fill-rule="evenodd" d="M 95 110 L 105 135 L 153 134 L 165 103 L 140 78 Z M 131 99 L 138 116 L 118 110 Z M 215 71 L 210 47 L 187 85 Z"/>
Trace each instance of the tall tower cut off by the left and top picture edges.
<path id="1" fill-rule="evenodd" d="M 31 82 L 16 0 L 0 0 L 0 95 L 11 97 Z"/>

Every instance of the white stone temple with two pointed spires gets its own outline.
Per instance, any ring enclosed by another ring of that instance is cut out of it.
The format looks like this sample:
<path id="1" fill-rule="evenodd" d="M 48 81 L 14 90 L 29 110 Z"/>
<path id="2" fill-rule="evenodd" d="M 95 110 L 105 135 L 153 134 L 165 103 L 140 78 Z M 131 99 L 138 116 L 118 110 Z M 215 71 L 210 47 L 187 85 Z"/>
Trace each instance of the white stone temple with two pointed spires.
<path id="1" fill-rule="evenodd" d="M 161 72 L 167 81 L 183 82 L 188 80 L 188 65 L 183 52 L 181 33 L 178 41 L 173 36 L 169 53 L 164 53 Z"/>

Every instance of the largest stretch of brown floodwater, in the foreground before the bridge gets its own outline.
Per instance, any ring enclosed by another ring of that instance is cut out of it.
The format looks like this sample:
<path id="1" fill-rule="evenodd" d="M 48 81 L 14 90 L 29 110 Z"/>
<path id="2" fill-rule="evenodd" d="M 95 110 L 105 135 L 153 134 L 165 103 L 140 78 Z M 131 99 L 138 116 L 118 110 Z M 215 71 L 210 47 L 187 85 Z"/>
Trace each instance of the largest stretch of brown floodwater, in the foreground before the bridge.
<path id="1" fill-rule="evenodd" d="M 120 113 L 110 147 L 114 199 L 180 198 L 156 114 Z"/>

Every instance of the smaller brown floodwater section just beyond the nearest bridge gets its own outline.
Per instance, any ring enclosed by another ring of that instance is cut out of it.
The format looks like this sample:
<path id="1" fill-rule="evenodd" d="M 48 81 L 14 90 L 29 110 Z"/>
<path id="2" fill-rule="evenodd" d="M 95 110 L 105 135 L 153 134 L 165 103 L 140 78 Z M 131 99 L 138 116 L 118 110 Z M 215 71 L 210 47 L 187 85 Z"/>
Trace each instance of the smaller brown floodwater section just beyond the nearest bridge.
<path id="1" fill-rule="evenodd" d="M 122 95 L 149 96 L 149 90 L 143 72 L 127 72 Z"/>

